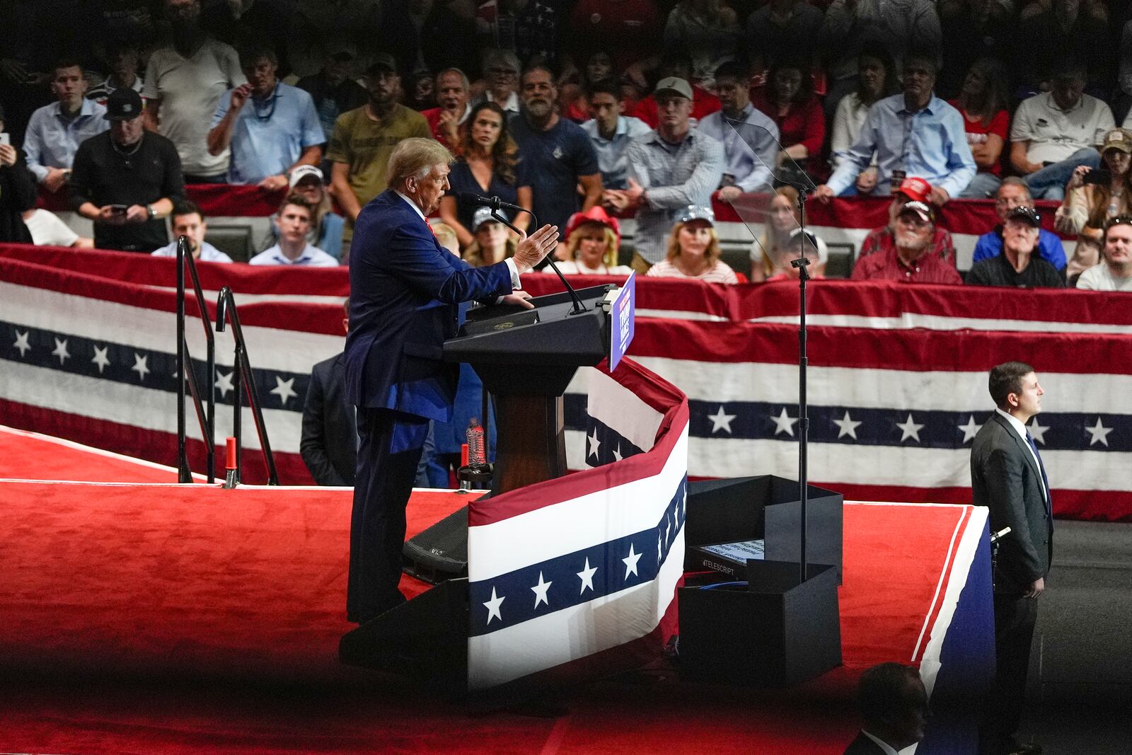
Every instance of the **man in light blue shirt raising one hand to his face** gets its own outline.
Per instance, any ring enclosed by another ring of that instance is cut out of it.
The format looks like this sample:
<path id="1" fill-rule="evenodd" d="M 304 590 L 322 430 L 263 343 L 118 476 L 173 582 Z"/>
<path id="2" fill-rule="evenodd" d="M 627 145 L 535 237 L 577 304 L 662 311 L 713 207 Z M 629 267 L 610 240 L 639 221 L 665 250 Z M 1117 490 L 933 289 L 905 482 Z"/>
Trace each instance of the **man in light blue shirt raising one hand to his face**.
<path id="1" fill-rule="evenodd" d="M 315 101 L 302 89 L 278 80 L 278 60 L 267 48 L 241 54 L 248 83 L 221 97 L 208 131 L 208 153 L 229 145 L 229 183 L 256 183 L 268 191 L 288 186 L 299 165 L 317 165 L 326 135 Z"/>

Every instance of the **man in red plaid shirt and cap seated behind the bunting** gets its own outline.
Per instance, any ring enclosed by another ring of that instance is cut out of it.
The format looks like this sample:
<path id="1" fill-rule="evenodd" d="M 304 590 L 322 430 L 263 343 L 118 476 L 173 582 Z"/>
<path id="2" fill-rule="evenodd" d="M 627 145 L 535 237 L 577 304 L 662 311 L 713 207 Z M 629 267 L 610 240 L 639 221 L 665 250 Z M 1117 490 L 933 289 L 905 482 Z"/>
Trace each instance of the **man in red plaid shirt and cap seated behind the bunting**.
<path id="1" fill-rule="evenodd" d="M 933 243 L 936 239 L 935 213 L 925 203 L 904 203 L 897 212 L 895 228 L 878 232 L 884 240 L 872 249 L 861 248 L 852 268 L 854 281 L 963 282 L 955 269 L 950 235 L 946 246 Z M 866 239 L 866 246 L 867 242 Z"/>

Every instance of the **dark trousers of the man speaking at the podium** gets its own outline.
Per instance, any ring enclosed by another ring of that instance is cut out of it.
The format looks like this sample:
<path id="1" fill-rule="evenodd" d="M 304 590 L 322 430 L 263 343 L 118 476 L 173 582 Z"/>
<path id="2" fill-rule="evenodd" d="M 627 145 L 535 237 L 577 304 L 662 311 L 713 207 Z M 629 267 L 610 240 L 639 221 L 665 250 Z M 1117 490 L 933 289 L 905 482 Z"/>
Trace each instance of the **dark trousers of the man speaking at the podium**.
<path id="1" fill-rule="evenodd" d="M 401 551 L 405 506 L 421 449 L 391 453 L 397 414 L 358 407 L 358 475 L 350 520 L 350 578 L 346 616 L 361 624 L 404 602 Z"/>

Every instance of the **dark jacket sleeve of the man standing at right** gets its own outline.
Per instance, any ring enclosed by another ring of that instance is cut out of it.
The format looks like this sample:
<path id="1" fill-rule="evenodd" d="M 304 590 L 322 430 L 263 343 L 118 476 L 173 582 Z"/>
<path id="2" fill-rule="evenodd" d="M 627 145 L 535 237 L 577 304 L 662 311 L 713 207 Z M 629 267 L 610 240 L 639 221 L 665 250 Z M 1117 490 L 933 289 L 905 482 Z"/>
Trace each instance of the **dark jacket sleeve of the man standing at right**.
<path id="1" fill-rule="evenodd" d="M 1038 549 L 1030 539 L 1030 524 L 1026 516 L 1022 490 L 1022 470 L 1026 464 L 1017 444 L 1014 448 L 1000 445 L 987 455 L 984 479 L 987 496 L 993 501 L 994 526 L 1010 527 L 1009 538 L 1003 540 L 1003 548 L 1007 550 L 1000 557 L 998 564 L 1012 572 L 1020 582 L 1029 584 L 1044 576 L 1044 572 Z"/>

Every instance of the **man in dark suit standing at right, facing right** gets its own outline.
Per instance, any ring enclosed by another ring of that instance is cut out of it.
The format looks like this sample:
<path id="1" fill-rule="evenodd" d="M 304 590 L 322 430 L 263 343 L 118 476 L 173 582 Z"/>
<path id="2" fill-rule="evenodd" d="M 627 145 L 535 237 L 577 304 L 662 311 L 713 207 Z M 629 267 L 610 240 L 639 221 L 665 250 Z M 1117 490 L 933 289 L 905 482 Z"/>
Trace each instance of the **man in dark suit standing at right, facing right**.
<path id="1" fill-rule="evenodd" d="M 1049 481 L 1034 437 L 1026 428 L 1041 411 L 1045 393 L 1034 368 L 1005 362 L 990 370 L 994 414 L 971 446 L 971 495 L 990 509 L 990 531 L 1010 527 L 1001 541 L 994 573 L 997 668 L 987 718 L 979 732 L 983 753 L 1036 753 L 1014 738 L 1022 718 L 1030 642 L 1038 595 L 1053 560 Z"/>

